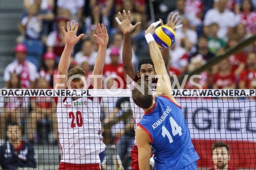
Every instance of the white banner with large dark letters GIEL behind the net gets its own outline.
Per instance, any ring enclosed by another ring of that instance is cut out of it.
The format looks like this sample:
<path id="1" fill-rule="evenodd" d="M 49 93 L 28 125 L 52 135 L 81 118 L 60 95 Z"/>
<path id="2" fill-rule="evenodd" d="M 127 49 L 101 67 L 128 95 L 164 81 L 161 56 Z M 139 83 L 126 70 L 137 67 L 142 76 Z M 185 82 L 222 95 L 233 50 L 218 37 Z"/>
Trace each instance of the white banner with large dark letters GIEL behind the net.
<path id="1" fill-rule="evenodd" d="M 255 101 L 230 98 L 226 100 L 181 99 L 179 102 L 192 139 L 256 142 Z"/>

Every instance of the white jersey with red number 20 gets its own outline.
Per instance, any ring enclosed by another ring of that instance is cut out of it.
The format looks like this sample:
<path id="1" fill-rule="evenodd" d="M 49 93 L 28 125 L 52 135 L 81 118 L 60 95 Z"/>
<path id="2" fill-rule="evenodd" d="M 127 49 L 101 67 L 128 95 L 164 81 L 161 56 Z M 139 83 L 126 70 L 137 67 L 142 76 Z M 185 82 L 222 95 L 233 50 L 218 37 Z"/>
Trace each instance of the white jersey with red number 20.
<path id="1" fill-rule="evenodd" d="M 58 98 L 57 121 L 61 162 L 100 163 L 102 142 L 99 98 Z"/>

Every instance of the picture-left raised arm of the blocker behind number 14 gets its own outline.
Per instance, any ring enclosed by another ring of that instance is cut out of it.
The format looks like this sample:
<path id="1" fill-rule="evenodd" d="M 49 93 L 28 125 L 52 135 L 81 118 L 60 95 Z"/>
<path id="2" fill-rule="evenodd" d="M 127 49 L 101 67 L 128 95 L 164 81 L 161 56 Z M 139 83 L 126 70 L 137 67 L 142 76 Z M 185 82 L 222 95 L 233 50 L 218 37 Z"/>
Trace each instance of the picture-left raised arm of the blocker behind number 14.
<path id="1" fill-rule="evenodd" d="M 116 18 L 122 33 L 124 34 L 124 44 L 123 44 L 123 64 L 124 64 L 124 78 L 126 82 L 126 76 L 135 78 L 135 69 L 132 64 L 132 36 L 131 34 L 135 30 L 136 27 L 140 25 L 140 22 L 137 22 L 134 26 L 131 23 L 131 12 L 128 11 L 128 15 L 126 15 L 125 10 L 123 10 L 123 16 L 121 12 L 118 12 L 119 18 L 121 18 L 120 22 L 118 18 Z M 131 82 L 126 82 L 130 84 Z"/>

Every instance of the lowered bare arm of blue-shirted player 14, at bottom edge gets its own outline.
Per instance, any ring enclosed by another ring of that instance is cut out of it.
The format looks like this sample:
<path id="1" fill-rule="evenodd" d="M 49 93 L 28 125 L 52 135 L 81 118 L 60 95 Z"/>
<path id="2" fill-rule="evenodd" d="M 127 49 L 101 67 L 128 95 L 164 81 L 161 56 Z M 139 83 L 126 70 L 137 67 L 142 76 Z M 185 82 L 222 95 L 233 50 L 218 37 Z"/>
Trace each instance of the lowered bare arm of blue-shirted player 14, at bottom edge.
<path id="1" fill-rule="evenodd" d="M 150 169 L 149 159 L 151 157 L 151 145 L 149 142 L 149 136 L 147 132 L 145 132 L 140 126 L 136 129 L 136 141 L 139 152 L 139 168 L 140 170 L 148 170 Z"/>

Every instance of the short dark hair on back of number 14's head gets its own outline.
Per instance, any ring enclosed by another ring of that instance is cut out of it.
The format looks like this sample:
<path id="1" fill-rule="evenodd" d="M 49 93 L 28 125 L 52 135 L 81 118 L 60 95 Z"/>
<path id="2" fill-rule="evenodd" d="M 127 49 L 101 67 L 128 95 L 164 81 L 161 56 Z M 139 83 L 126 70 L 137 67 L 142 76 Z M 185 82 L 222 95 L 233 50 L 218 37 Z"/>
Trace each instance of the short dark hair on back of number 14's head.
<path id="1" fill-rule="evenodd" d="M 137 85 L 135 85 L 135 87 L 132 90 L 132 99 L 137 106 L 139 106 L 142 109 L 147 109 L 153 103 L 153 94 L 147 81 L 139 79 L 137 82 L 137 84 L 140 87 L 141 84 L 143 83 L 144 87 L 142 87 L 142 90 L 144 91 L 144 94 L 142 94 L 140 90 L 136 87 Z"/>

